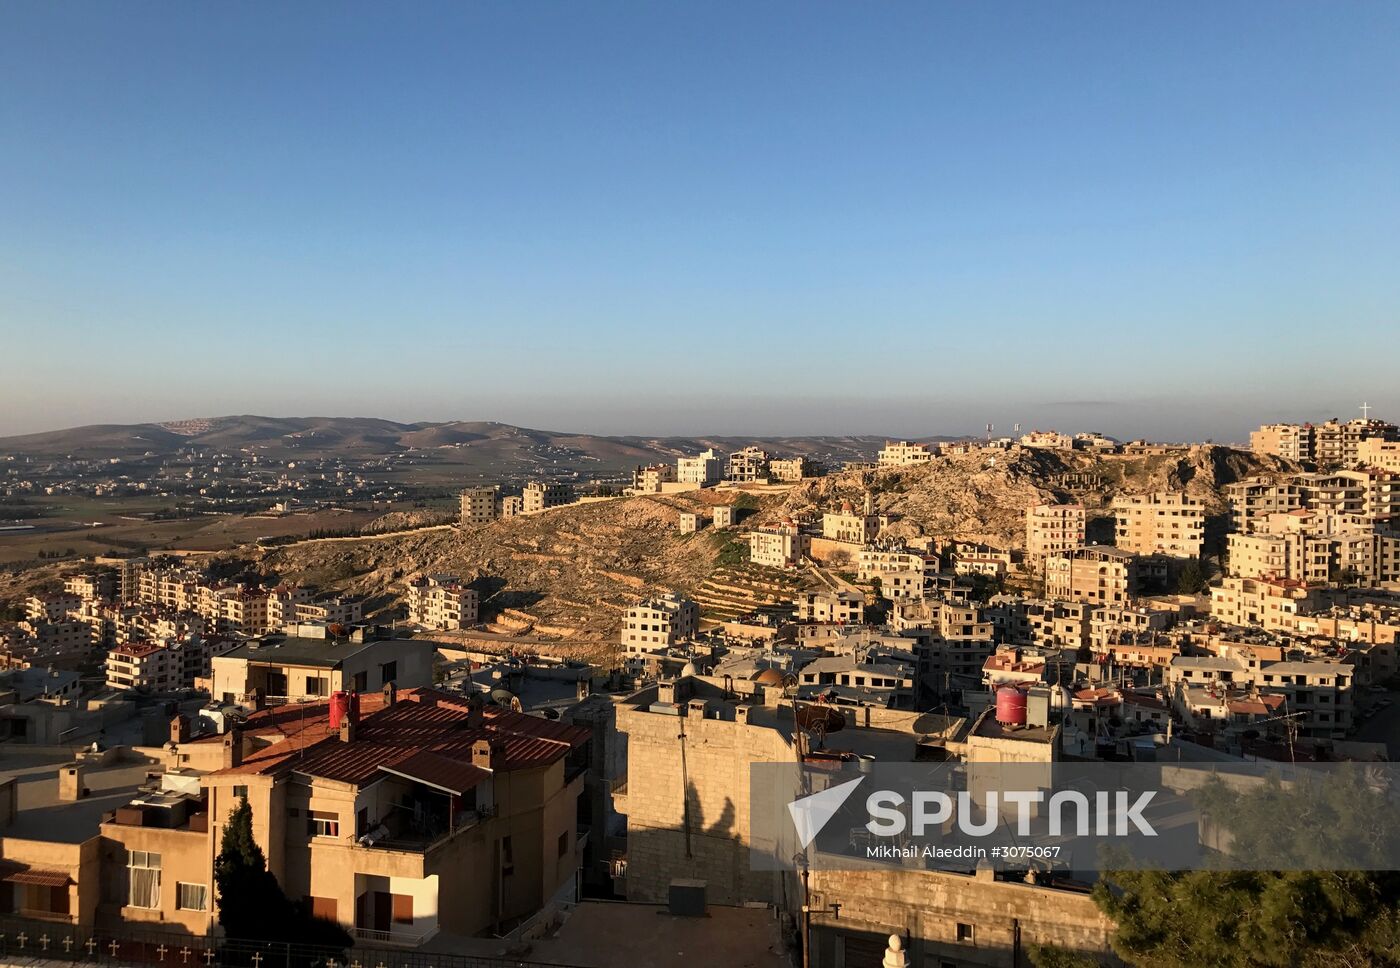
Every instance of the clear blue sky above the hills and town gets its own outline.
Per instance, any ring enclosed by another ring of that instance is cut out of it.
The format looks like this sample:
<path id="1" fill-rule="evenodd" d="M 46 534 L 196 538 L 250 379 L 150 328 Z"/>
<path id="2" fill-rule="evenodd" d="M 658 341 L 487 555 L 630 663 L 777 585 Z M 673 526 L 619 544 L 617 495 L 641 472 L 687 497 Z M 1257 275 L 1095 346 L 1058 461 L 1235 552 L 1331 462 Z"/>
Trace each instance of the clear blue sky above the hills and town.
<path id="1" fill-rule="evenodd" d="M 1400 4 L 0 4 L 0 433 L 1400 419 Z"/>

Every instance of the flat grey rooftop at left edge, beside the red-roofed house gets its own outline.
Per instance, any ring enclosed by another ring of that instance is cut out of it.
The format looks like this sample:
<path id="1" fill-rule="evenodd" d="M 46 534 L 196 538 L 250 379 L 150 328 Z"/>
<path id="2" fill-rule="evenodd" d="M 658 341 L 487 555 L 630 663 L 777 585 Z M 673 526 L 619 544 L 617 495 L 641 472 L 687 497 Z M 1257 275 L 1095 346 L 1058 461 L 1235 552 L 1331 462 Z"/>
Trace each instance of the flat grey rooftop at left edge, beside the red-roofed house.
<path id="1" fill-rule="evenodd" d="M 123 759 L 109 766 L 88 765 L 83 786 L 91 793 L 77 801 L 59 800 L 59 766 L 71 763 L 63 752 L 29 752 L 7 747 L 0 756 L 0 780 L 14 777 L 18 811 L 0 838 L 83 843 L 98 835 L 102 814 L 125 807 L 146 775 L 160 770 L 154 761 Z"/>

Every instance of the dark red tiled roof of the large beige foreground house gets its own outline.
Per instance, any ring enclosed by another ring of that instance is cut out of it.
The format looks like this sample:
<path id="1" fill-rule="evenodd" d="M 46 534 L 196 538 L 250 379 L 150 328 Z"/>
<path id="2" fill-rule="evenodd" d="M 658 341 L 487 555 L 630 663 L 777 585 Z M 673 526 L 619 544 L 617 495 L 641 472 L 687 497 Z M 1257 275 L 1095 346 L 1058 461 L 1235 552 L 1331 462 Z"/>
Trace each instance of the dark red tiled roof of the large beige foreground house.
<path id="1" fill-rule="evenodd" d="M 489 706 L 480 726 L 468 726 L 470 707 L 461 696 L 435 689 L 406 689 L 399 702 L 384 706 L 378 693 L 360 698 L 360 724 L 353 742 L 330 730 L 329 703 L 279 706 L 248 719 L 245 731 L 284 738 L 244 756 L 224 773 L 270 773 L 294 769 L 344 783 L 364 783 L 381 766 L 399 765 L 431 752 L 438 759 L 470 765 L 472 744 L 500 744 L 501 769 L 532 769 L 566 756 L 588 741 L 582 726 Z M 419 761 L 420 766 L 427 761 Z M 441 763 L 440 763 L 441 765 Z"/>

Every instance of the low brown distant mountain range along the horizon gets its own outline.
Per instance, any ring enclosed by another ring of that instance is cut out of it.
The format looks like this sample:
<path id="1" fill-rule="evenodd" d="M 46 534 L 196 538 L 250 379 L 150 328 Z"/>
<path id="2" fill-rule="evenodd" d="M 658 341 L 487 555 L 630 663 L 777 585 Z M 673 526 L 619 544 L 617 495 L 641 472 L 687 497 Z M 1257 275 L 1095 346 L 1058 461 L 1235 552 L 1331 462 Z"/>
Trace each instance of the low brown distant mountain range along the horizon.
<path id="1" fill-rule="evenodd" d="M 435 452 L 452 464 L 552 461 L 617 468 L 672 461 L 707 447 L 728 452 L 749 444 L 757 444 L 777 455 L 871 459 L 883 443 L 883 437 L 871 436 L 606 437 L 531 430 L 494 422 L 396 423 L 375 417 L 225 416 L 172 423 L 94 424 L 0 437 L 0 455 L 139 458 L 190 448 L 230 454 L 255 451 L 269 457 L 372 458 Z"/>

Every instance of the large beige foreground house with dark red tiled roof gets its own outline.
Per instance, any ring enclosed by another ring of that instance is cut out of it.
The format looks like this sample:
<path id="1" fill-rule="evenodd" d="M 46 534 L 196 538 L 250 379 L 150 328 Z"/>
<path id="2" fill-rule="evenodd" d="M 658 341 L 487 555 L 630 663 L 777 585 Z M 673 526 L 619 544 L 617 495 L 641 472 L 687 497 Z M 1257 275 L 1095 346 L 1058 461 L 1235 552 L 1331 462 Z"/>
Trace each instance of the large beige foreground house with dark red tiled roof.
<path id="1" fill-rule="evenodd" d="M 573 888 L 589 730 L 434 689 L 330 716 L 279 706 L 181 745 L 221 761 L 204 777 L 214 845 L 246 794 L 288 897 L 371 943 L 508 929 Z"/>

